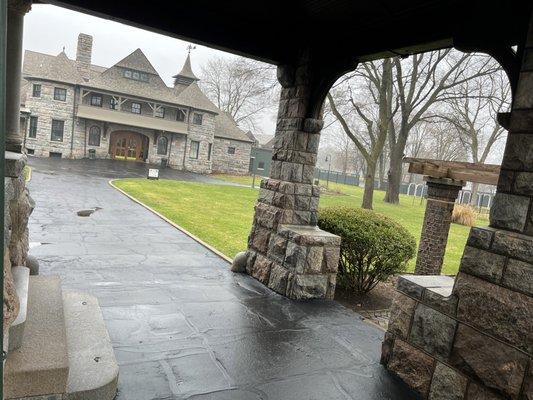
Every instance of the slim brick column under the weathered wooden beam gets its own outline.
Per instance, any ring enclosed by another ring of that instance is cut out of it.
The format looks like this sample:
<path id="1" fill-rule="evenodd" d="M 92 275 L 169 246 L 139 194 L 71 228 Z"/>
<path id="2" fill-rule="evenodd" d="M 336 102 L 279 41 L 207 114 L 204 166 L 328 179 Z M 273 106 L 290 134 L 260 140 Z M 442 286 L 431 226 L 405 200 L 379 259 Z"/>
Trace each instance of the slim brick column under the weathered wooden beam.
<path id="1" fill-rule="evenodd" d="M 427 181 L 428 199 L 418 245 L 415 274 L 440 275 L 453 207 L 464 183 L 447 178 L 424 177 L 424 179 Z"/>

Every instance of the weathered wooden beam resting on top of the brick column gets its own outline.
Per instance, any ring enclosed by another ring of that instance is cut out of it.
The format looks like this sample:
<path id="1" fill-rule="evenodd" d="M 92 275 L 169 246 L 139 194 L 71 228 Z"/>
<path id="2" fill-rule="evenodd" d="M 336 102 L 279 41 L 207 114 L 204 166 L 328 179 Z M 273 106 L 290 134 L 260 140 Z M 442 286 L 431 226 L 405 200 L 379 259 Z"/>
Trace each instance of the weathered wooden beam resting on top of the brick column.
<path id="1" fill-rule="evenodd" d="M 500 176 L 500 166 L 495 164 L 441 161 L 411 157 L 405 157 L 403 162 L 409 164 L 410 173 L 426 175 L 431 178 L 449 178 L 456 181 L 497 185 L 498 177 Z"/>

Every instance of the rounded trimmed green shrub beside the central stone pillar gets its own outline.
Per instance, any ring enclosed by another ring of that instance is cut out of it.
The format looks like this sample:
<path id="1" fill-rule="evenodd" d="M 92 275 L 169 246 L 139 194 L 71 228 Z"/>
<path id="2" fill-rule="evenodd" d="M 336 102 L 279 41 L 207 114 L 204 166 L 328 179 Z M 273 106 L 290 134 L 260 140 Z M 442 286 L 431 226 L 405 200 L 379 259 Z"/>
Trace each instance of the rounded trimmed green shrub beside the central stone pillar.
<path id="1" fill-rule="evenodd" d="M 415 255 L 416 241 L 407 229 L 371 210 L 321 209 L 318 225 L 341 237 L 337 284 L 356 293 L 367 293 L 405 271 Z"/>

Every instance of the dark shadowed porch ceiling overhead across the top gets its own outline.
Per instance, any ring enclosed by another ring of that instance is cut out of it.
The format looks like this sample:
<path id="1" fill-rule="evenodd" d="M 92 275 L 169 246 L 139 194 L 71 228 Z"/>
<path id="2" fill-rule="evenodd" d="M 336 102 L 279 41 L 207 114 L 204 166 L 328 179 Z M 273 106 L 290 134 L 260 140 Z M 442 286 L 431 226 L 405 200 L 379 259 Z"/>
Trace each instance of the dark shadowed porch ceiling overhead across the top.
<path id="1" fill-rule="evenodd" d="M 38 0 L 39 1 L 39 0 Z M 331 62 L 451 47 L 512 46 L 522 0 L 41 0 L 274 64 L 312 48 Z"/>

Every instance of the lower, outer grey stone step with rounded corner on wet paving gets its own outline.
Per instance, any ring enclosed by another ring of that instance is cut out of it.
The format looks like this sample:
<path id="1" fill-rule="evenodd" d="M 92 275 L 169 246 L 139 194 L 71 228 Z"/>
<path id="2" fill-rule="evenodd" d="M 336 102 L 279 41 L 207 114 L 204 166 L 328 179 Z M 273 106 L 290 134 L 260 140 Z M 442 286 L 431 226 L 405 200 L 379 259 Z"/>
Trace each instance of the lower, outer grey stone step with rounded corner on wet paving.
<path id="1" fill-rule="evenodd" d="M 63 293 L 70 372 L 67 400 L 111 400 L 117 392 L 118 364 L 98 300 Z"/>

